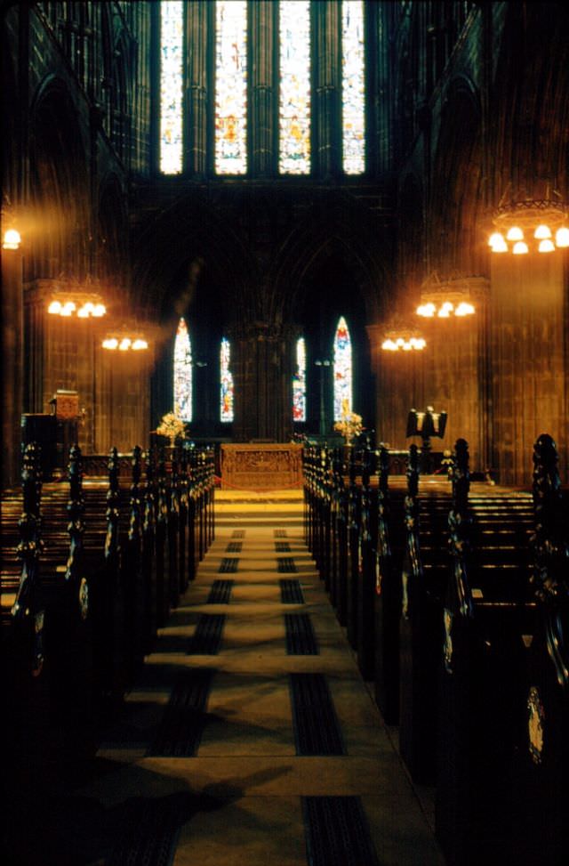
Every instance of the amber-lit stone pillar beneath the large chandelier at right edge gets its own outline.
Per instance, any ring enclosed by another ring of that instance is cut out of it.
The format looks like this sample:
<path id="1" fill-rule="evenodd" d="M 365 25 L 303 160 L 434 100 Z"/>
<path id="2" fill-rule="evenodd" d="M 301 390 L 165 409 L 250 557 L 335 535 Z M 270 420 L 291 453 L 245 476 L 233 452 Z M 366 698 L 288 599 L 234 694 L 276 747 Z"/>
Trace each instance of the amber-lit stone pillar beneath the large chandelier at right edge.
<path id="1" fill-rule="evenodd" d="M 532 480 L 533 443 L 557 442 L 567 478 L 565 254 L 492 255 L 493 458 L 500 482 Z"/>

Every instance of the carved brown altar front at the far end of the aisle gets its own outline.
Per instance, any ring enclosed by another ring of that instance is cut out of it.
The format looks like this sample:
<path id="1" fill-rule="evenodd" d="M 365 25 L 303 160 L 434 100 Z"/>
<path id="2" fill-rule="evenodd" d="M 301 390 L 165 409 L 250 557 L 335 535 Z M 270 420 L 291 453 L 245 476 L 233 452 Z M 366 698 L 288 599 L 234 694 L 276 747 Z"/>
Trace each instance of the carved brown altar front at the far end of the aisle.
<path id="1" fill-rule="evenodd" d="M 221 446 L 221 488 L 282 490 L 301 485 L 301 445 L 285 442 Z"/>

